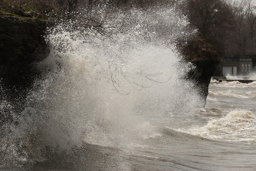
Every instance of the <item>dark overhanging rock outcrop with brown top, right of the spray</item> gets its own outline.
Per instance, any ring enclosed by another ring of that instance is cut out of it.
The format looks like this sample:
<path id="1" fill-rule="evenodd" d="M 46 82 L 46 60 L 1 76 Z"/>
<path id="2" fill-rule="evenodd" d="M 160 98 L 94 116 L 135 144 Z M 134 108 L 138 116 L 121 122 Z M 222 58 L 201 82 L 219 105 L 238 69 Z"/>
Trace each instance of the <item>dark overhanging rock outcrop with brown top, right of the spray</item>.
<path id="1" fill-rule="evenodd" d="M 214 75 L 219 63 L 217 51 L 213 44 L 197 36 L 190 38 L 185 43 L 182 41 L 177 48 L 181 52 L 183 59 L 195 66 L 187 73 L 186 79 L 194 83 L 194 88 L 198 90 L 204 101 L 204 107 L 211 77 Z"/>

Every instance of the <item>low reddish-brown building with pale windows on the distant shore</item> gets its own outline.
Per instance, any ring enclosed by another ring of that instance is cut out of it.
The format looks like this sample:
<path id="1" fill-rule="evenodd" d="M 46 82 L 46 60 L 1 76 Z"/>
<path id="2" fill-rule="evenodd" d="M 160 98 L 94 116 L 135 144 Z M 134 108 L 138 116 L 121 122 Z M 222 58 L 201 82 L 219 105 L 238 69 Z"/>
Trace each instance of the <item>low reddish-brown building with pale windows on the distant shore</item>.
<path id="1" fill-rule="evenodd" d="M 250 57 L 223 57 L 221 58 L 216 76 L 248 76 L 253 71 L 253 62 Z"/>

